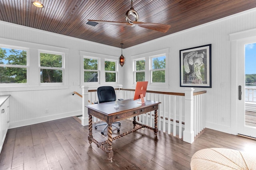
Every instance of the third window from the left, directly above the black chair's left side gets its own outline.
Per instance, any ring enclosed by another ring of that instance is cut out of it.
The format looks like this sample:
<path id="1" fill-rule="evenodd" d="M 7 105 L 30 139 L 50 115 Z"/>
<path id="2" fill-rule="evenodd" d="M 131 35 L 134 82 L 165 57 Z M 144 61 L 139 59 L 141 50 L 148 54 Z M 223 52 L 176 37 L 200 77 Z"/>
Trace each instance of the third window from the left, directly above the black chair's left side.
<path id="1" fill-rule="evenodd" d="M 98 59 L 84 58 L 84 82 L 98 82 Z"/>

